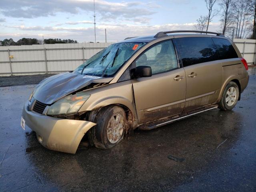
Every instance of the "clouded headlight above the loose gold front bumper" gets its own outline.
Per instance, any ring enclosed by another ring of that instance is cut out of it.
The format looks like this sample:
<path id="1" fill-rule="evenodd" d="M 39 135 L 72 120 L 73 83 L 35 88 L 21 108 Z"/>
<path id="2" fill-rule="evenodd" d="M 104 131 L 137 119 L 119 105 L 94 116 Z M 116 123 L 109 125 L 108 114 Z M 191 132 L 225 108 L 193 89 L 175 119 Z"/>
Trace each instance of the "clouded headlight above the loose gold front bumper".
<path id="1" fill-rule="evenodd" d="M 50 106 L 48 109 L 48 115 L 72 115 L 76 114 L 84 102 L 90 97 L 91 95 L 86 92 L 79 92 L 74 95 L 68 95 L 53 105 Z"/>

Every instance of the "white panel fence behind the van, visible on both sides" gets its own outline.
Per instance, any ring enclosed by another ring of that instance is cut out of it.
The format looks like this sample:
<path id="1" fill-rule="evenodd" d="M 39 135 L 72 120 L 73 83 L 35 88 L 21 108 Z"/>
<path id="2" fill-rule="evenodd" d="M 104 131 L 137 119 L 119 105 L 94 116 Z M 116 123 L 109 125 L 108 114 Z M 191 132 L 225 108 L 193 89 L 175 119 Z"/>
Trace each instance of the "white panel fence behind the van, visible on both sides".
<path id="1" fill-rule="evenodd" d="M 256 64 L 256 40 L 234 39 L 249 65 Z M 0 46 L 0 76 L 74 70 L 112 43 Z"/>

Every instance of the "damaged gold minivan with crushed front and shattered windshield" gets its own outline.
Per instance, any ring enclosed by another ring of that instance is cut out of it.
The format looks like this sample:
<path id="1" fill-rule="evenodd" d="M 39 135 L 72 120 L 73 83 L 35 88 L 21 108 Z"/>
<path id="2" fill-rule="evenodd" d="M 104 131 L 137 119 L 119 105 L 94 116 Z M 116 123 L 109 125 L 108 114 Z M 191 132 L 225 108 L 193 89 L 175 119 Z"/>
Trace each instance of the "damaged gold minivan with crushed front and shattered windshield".
<path id="1" fill-rule="evenodd" d="M 74 154 L 84 137 L 108 149 L 135 128 L 232 110 L 248 84 L 248 65 L 232 40 L 202 33 L 126 38 L 42 80 L 24 105 L 22 127 L 44 147 Z"/>

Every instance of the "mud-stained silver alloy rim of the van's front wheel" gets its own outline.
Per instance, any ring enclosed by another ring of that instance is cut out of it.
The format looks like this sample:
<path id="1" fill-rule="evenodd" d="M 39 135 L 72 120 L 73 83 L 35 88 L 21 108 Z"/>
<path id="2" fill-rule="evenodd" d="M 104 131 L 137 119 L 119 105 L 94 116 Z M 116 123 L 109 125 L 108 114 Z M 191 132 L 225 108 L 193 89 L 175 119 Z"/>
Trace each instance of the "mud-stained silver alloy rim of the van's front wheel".
<path id="1" fill-rule="evenodd" d="M 107 135 L 110 143 L 116 143 L 124 131 L 124 117 L 120 113 L 112 115 L 108 122 Z"/>

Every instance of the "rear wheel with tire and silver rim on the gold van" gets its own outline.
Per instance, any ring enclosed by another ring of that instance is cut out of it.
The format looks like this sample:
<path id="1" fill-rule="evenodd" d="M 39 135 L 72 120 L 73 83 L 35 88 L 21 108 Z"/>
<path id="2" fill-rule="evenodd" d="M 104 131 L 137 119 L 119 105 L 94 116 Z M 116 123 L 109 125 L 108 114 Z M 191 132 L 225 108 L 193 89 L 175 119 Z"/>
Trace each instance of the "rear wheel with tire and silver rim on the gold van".
<path id="1" fill-rule="evenodd" d="M 218 104 L 220 110 L 229 111 L 232 110 L 238 101 L 239 88 L 235 82 L 229 82 L 224 92 L 222 98 Z"/>

